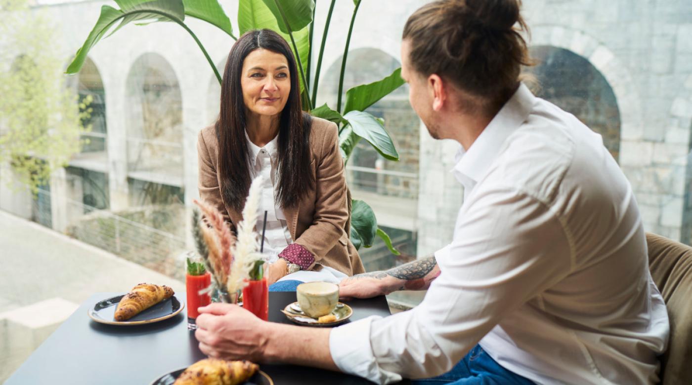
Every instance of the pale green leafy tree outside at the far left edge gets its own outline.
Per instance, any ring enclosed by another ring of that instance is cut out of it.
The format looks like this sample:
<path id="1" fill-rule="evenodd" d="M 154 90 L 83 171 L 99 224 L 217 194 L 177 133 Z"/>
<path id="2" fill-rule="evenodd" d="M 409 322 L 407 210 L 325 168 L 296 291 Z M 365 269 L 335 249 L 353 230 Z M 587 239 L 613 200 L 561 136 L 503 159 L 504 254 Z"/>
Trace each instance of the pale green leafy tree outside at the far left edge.
<path id="1" fill-rule="evenodd" d="M 0 1 L 0 13 L 0 164 L 36 193 L 80 151 L 91 101 L 66 88 L 51 19 L 27 0 Z"/>

